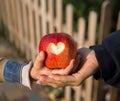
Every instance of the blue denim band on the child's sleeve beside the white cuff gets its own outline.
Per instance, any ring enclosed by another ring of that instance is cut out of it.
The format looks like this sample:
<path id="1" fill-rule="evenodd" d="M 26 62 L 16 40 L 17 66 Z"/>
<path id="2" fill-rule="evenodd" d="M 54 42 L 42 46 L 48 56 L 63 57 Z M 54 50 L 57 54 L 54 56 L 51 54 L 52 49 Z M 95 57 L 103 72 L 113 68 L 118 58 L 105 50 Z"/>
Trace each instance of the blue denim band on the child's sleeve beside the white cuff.
<path id="1" fill-rule="evenodd" d="M 19 82 L 23 66 L 15 61 L 8 61 L 4 69 L 4 78 L 8 82 Z"/>

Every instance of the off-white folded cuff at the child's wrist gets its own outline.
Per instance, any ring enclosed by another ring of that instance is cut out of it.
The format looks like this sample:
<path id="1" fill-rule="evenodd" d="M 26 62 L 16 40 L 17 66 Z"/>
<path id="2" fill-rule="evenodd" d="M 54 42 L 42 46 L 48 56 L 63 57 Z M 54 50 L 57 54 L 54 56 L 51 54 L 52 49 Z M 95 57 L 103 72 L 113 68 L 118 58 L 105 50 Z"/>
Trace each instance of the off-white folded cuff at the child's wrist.
<path id="1" fill-rule="evenodd" d="M 30 83 L 30 69 L 33 66 L 33 62 L 29 62 L 29 64 L 23 66 L 21 73 L 21 84 L 31 89 Z"/>

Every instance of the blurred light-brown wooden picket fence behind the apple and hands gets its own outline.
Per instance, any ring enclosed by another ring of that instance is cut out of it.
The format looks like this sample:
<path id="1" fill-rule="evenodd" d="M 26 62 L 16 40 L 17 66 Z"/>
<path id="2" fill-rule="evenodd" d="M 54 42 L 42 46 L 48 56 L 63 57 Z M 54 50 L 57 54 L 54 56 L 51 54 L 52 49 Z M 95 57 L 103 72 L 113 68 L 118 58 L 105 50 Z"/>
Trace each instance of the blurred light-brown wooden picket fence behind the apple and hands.
<path id="1" fill-rule="evenodd" d="M 75 31 L 73 6 L 68 4 L 65 10 L 62 6 L 62 0 L 0 0 L 0 20 L 9 31 L 10 41 L 27 60 L 35 59 L 40 38 L 47 33 L 68 33 L 80 48 L 96 44 L 96 35 L 99 35 L 101 42 L 103 36 L 110 32 L 112 5 L 109 1 L 105 1 L 101 7 L 100 33 L 97 32 L 98 15 L 95 11 L 89 13 L 88 24 L 80 17 Z M 63 22 L 63 11 L 66 22 Z M 120 29 L 120 14 L 117 29 Z M 81 86 L 66 87 L 64 91 L 66 101 L 116 101 L 118 92 L 102 81 L 94 81 L 92 77 Z M 71 95 L 74 95 L 73 99 Z"/>

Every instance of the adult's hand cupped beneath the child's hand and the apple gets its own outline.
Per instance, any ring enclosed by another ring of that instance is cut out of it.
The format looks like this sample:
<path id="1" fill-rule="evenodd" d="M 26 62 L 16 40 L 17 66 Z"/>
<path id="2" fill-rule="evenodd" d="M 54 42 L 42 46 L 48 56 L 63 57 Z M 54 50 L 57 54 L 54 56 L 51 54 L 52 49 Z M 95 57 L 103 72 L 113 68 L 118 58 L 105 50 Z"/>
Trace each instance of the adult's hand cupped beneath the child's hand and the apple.
<path id="1" fill-rule="evenodd" d="M 81 56 L 80 64 L 77 72 L 71 75 L 51 74 L 49 76 L 42 75 L 37 81 L 41 85 L 49 85 L 52 87 L 78 86 L 85 79 L 93 75 L 98 70 L 98 62 L 95 52 L 89 48 L 81 48 L 77 52 L 77 56 Z M 76 60 L 79 61 L 79 60 Z M 67 73 L 65 73 L 67 74 Z"/>

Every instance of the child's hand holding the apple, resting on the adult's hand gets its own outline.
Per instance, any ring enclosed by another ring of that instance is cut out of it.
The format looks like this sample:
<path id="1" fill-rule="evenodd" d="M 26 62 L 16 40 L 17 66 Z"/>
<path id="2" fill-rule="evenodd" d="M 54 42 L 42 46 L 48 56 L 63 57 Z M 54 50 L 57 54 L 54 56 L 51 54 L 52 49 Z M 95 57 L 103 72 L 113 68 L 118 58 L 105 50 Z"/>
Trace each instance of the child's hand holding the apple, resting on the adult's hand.
<path id="1" fill-rule="evenodd" d="M 72 71 L 74 65 L 74 59 L 71 60 L 70 64 L 65 69 L 49 69 L 44 65 L 45 53 L 41 51 L 30 71 L 30 77 L 34 80 L 38 80 L 40 75 L 50 74 L 69 74 Z"/>

